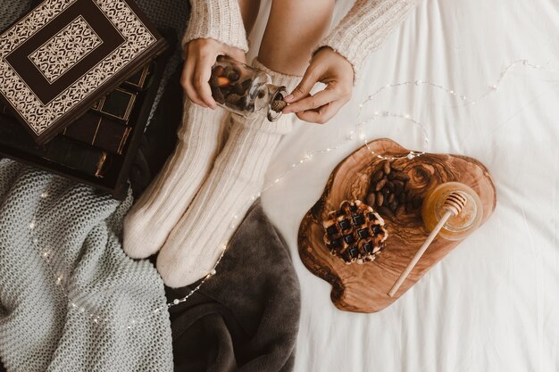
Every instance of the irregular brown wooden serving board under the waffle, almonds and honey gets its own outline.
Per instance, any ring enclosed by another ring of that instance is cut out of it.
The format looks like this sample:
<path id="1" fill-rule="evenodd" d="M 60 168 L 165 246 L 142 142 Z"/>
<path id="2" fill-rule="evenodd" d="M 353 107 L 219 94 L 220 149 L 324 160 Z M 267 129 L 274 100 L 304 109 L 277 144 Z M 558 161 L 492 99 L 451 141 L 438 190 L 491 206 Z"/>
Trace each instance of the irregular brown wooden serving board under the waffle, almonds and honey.
<path id="1" fill-rule="evenodd" d="M 372 141 L 369 147 L 384 156 L 409 153 L 390 139 Z M 381 162 L 366 146 L 349 155 L 333 170 L 321 199 L 306 213 L 299 227 L 301 260 L 314 275 L 332 285 L 330 296 L 340 310 L 375 312 L 386 308 L 460 243 L 437 237 L 392 298 L 388 291 L 429 236 L 421 220 L 421 208 L 393 219 L 382 216 L 389 236 L 386 247 L 373 262 L 346 265 L 339 257 L 330 254 L 323 242 L 321 221 L 326 219 L 328 212 L 338 210 L 344 200 L 364 201 L 371 174 L 380 169 Z M 483 205 L 481 223 L 495 210 L 495 186 L 488 169 L 480 161 L 460 155 L 428 153 L 413 160 L 393 161 L 393 165 L 410 177 L 407 187 L 413 198 L 422 200 L 431 187 L 457 181 L 471 186 L 480 195 Z"/>

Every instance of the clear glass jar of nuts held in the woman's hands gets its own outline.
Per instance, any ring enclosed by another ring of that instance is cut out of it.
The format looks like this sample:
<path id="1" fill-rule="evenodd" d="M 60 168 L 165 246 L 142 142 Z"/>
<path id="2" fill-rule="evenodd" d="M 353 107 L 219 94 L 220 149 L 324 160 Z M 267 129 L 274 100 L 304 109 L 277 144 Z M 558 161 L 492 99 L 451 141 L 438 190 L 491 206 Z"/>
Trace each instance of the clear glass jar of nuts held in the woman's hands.
<path id="1" fill-rule="evenodd" d="M 245 117 L 256 112 L 276 121 L 288 104 L 283 100 L 286 87 L 271 84 L 263 70 L 223 55 L 213 65 L 210 87 L 216 103 Z"/>

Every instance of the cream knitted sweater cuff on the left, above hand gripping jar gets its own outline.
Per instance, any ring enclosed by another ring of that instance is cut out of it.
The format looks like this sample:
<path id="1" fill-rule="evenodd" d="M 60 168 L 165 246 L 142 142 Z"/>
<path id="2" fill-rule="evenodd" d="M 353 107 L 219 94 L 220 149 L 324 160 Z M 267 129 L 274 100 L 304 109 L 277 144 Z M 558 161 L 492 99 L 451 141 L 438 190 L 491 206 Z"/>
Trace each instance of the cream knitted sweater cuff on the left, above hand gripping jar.
<path id="1" fill-rule="evenodd" d="M 190 0 L 190 20 L 182 46 L 196 38 L 213 38 L 248 51 L 238 0 Z"/>

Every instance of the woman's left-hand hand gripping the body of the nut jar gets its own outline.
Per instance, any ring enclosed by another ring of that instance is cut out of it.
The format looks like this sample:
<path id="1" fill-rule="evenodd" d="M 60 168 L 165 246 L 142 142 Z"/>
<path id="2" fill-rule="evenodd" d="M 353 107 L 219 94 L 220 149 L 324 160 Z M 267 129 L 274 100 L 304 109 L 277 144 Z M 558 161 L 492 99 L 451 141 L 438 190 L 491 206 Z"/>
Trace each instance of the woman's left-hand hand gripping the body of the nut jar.
<path id="1" fill-rule="evenodd" d="M 209 81 L 218 55 L 228 55 L 237 61 L 246 62 L 245 52 L 238 48 L 213 38 L 196 38 L 186 47 L 185 64 L 180 78 L 180 85 L 192 102 L 212 109 L 215 109 L 217 103 L 213 100 Z"/>

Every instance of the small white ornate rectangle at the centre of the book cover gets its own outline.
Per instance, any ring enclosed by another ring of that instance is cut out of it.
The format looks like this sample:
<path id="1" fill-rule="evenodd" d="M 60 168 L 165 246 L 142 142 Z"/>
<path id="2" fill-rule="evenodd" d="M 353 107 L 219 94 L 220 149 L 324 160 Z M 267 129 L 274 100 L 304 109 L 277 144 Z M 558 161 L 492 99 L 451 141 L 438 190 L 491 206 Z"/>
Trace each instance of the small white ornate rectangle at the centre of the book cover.
<path id="1" fill-rule="evenodd" d="M 101 44 L 103 41 L 91 29 L 88 21 L 79 16 L 29 54 L 29 60 L 52 84 Z"/>

